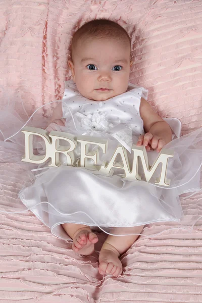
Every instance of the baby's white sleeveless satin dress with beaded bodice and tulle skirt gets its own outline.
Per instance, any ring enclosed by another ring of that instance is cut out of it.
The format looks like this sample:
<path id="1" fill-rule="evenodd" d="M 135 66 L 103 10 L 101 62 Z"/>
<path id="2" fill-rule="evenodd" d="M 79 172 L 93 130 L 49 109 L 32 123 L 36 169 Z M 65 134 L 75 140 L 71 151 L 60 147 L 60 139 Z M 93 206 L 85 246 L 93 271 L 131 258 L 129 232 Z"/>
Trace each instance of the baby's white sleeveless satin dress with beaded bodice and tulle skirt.
<path id="1" fill-rule="evenodd" d="M 98 164 L 109 161 L 120 143 L 128 150 L 131 161 L 132 143 L 144 134 L 139 106 L 141 97 L 147 98 L 147 90 L 129 84 L 125 93 L 97 102 L 83 97 L 72 80 L 65 84 L 62 99 L 65 126 L 52 125 L 49 130 L 107 138 L 108 151 L 105 155 L 101 153 Z M 161 165 L 149 182 L 145 181 L 141 168 L 142 180 L 126 181 L 121 169 L 115 169 L 110 176 L 97 175 L 86 168 L 67 166 L 66 157 L 62 156 L 60 167 L 39 171 L 33 184 L 20 191 L 21 201 L 54 235 L 63 239 L 70 239 L 63 223 L 85 224 L 108 234 L 126 235 L 134 233 L 134 226 L 180 222 L 183 212 L 179 195 L 200 190 L 202 129 L 180 137 L 181 122 L 176 118 L 164 120 L 173 132 L 172 141 L 164 146 L 174 150 L 166 175 L 171 180 L 169 187 L 155 185 Z M 43 144 L 37 143 L 37 147 L 40 153 Z M 79 144 L 75 155 L 79 159 Z M 149 165 L 153 165 L 158 155 L 156 150 L 147 152 Z M 47 168 L 47 164 L 44 166 Z"/>

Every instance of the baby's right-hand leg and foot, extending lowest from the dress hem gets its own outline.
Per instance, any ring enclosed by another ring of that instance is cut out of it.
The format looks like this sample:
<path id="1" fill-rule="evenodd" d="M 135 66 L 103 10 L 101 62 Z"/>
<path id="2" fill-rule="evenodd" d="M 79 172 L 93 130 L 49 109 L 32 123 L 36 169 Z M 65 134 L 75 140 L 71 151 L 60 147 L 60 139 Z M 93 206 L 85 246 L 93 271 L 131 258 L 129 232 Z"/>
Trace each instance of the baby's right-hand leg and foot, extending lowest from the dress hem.
<path id="1" fill-rule="evenodd" d="M 133 232 L 140 234 L 144 225 L 133 227 Z M 118 234 L 119 228 L 113 228 L 111 233 L 116 230 Z M 127 231 L 127 227 L 124 228 L 124 231 Z M 131 232 L 131 227 L 130 227 Z M 128 232 L 128 233 L 130 233 Z M 126 232 L 127 233 L 127 232 Z M 117 277 L 122 273 L 122 263 L 119 260 L 119 257 L 123 252 L 125 252 L 139 237 L 139 235 L 131 236 L 111 236 L 109 235 L 106 241 L 103 244 L 102 249 L 99 253 L 99 273 L 104 275 L 106 272 Z"/>

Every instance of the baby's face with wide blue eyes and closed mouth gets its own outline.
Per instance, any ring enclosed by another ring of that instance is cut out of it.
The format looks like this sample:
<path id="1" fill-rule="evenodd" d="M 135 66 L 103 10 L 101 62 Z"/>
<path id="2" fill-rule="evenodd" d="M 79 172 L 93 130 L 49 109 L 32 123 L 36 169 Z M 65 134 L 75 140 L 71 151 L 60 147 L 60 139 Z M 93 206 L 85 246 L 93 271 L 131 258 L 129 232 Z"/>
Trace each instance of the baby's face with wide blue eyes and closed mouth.
<path id="1" fill-rule="evenodd" d="M 78 42 L 74 64 L 71 60 L 68 63 L 79 93 L 88 99 L 105 101 L 128 88 L 132 64 L 129 43 L 87 38 Z"/>

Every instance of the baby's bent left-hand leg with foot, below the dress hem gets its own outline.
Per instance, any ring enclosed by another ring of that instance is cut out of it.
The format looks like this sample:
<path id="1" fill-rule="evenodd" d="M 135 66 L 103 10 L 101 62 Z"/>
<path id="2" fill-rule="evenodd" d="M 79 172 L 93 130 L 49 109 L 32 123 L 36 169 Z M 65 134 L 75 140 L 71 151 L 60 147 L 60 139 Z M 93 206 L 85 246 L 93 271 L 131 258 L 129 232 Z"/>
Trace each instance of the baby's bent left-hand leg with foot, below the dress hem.
<path id="1" fill-rule="evenodd" d="M 91 232 L 89 226 L 82 224 L 62 224 L 66 233 L 73 239 L 72 249 L 80 255 L 91 255 L 94 251 L 94 243 L 98 241 L 97 236 Z"/>

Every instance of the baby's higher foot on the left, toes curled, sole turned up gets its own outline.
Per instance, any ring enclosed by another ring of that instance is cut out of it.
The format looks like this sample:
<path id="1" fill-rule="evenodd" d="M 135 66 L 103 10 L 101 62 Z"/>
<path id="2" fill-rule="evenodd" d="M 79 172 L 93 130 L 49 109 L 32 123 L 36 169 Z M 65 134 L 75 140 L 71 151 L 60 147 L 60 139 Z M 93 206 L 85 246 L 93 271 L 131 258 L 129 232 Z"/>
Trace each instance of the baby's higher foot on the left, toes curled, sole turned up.
<path id="1" fill-rule="evenodd" d="M 94 243 L 97 241 L 98 238 L 93 232 L 82 229 L 73 238 L 72 249 L 80 255 L 91 255 L 94 251 Z"/>

